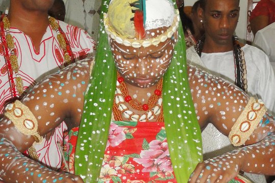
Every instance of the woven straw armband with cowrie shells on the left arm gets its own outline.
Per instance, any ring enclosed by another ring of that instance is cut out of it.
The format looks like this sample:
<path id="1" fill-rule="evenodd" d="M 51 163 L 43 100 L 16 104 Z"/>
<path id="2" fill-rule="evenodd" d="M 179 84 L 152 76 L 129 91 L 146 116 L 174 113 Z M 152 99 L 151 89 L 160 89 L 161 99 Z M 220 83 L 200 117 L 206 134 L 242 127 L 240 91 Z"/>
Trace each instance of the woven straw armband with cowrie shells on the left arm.
<path id="1" fill-rule="evenodd" d="M 38 122 L 31 110 L 16 100 L 5 108 L 7 116 L 14 126 L 24 135 L 32 135 L 36 143 L 41 143 L 43 138 L 38 133 Z"/>

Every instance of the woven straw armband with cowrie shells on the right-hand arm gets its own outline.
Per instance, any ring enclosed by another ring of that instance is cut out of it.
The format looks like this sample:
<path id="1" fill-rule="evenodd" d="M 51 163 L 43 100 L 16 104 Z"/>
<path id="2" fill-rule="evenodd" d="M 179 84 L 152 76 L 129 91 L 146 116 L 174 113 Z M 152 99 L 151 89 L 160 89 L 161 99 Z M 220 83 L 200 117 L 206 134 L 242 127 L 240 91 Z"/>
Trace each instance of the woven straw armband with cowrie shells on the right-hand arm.
<path id="1" fill-rule="evenodd" d="M 249 99 L 229 133 L 229 139 L 234 146 L 244 144 L 260 123 L 266 110 L 262 100 L 256 100 L 253 97 Z"/>

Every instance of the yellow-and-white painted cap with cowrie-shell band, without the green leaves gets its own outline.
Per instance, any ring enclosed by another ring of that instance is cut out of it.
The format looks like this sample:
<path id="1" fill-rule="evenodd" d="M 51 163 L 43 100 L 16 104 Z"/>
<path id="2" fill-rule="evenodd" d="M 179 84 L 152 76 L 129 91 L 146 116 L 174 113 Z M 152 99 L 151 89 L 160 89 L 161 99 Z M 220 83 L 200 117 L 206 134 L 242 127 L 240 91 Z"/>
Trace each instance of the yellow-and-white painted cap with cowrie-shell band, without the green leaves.
<path id="1" fill-rule="evenodd" d="M 167 0 L 113 0 L 108 13 L 104 14 L 105 31 L 111 39 L 134 48 L 156 46 L 166 41 L 177 31 L 179 22 L 178 9 Z M 168 29 L 153 38 L 144 38 L 146 31 L 159 27 Z"/>

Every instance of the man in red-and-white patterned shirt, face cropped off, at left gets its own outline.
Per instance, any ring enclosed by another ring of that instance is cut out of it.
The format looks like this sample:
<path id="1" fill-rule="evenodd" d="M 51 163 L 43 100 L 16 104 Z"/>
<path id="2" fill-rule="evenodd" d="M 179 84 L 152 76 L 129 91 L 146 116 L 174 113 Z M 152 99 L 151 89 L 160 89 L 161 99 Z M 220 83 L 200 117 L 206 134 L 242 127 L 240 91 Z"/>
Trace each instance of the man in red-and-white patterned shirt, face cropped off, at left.
<path id="1" fill-rule="evenodd" d="M 83 29 L 55 19 L 50 25 L 48 10 L 53 4 L 54 0 L 11 0 L 1 18 L 0 111 L 7 101 L 23 96 L 41 78 L 64 68 L 66 60 L 74 62 L 94 53 L 95 42 Z M 60 167 L 57 141 L 63 139 L 65 129 L 61 124 L 55 134 L 35 147 L 43 164 Z"/>

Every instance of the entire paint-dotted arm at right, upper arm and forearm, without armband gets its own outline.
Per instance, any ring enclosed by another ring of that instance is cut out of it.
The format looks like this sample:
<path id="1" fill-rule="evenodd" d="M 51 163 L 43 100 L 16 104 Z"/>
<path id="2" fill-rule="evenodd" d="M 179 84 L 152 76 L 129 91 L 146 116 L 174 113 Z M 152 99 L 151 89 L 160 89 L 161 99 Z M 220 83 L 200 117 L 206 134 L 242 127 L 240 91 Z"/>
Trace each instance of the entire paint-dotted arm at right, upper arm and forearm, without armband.
<path id="1" fill-rule="evenodd" d="M 211 122 L 221 133 L 228 136 L 246 106 L 248 96 L 235 85 L 220 78 L 212 78 L 201 70 L 192 71 L 190 81 L 190 87 L 196 88 L 192 97 L 201 127 Z M 257 129 L 245 142 L 244 145 L 247 146 L 240 146 L 227 154 L 199 163 L 189 182 L 228 182 L 240 170 L 274 174 L 274 129 L 274 119 L 266 113 Z"/>

